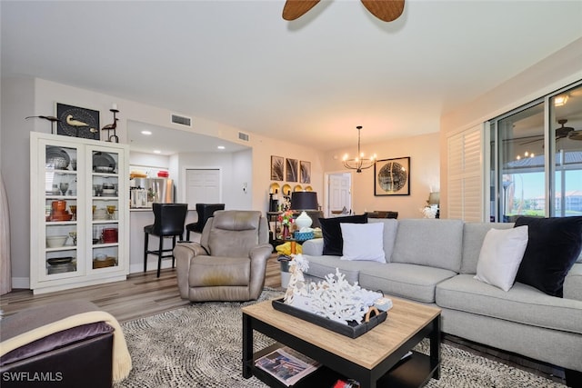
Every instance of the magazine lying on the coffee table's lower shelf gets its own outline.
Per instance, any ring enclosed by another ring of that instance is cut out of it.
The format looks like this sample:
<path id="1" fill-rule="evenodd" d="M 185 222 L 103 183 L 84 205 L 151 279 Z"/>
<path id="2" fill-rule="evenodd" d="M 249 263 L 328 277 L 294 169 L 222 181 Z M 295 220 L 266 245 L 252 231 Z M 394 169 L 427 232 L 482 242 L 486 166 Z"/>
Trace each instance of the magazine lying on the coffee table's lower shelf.
<path id="1" fill-rule="evenodd" d="M 256 360 L 255 365 L 286 386 L 293 385 L 307 374 L 316 371 L 320 363 L 288 346 L 281 347 Z"/>

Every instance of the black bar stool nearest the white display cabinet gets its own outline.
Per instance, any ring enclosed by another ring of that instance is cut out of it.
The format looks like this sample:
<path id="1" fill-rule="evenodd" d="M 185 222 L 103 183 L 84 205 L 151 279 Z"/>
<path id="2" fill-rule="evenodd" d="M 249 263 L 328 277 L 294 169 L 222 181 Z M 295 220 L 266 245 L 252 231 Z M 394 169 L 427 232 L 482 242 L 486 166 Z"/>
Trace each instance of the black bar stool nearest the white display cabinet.
<path id="1" fill-rule="evenodd" d="M 144 227 L 146 234 L 144 244 L 144 272 L 147 271 L 147 255 L 156 254 L 157 256 L 157 277 L 160 277 L 162 268 L 162 259 L 172 257 L 172 268 L 174 268 L 175 257 L 174 247 L 176 246 L 176 237 L 184 235 L 184 224 L 186 223 L 186 214 L 188 212 L 187 204 L 153 204 L 154 224 Z M 154 234 L 159 237 L 159 246 L 157 250 L 149 250 L 149 235 Z M 164 249 L 164 239 L 172 237 L 172 248 Z"/>

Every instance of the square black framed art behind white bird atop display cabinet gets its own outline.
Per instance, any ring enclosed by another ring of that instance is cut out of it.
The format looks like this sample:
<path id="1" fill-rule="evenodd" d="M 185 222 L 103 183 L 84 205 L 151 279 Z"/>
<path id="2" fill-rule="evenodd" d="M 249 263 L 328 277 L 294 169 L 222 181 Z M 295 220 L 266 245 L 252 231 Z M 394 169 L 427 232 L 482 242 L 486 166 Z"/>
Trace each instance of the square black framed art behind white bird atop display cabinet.
<path id="1" fill-rule="evenodd" d="M 99 111 L 56 103 L 57 134 L 99 140 Z"/>

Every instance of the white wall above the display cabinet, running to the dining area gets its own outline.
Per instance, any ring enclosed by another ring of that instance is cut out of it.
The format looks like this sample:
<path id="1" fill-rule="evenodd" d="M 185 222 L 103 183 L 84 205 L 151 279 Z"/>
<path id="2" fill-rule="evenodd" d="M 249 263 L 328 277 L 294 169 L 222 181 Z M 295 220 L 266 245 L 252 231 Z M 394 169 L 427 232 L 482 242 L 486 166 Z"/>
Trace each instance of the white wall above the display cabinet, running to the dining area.
<path id="1" fill-rule="evenodd" d="M 126 123 L 128 120 L 166 126 L 176 129 L 169 123 L 171 111 L 156 106 L 128 101 L 113 95 L 98 94 L 90 90 L 75 88 L 39 78 L 2 79 L 2 118 L 0 128 L 0 147 L 2 174 L 5 180 L 6 194 L 11 214 L 11 259 L 14 288 L 27 288 L 30 256 L 30 132 L 50 133 L 50 123 L 42 119 L 25 120 L 28 115 L 54 115 L 55 103 L 72 104 L 101 112 L 100 124 L 111 119 L 111 104 L 118 105 L 120 118 L 117 123 L 117 135 L 120 143 L 127 143 Z M 181 113 L 189 116 L 194 114 Z M 182 128 L 179 128 L 182 129 Z M 239 129 L 196 117 L 191 129 L 197 134 L 216 136 L 233 143 L 245 144 L 252 150 L 231 154 L 230 162 L 213 160 L 207 155 L 205 160 L 191 160 L 189 164 L 208 166 L 224 165 L 225 184 L 233 185 L 226 189 L 225 202 L 240 208 L 261 211 L 268 209 L 268 187 L 270 185 L 270 155 L 281 154 L 300 160 L 312 162 L 312 175 L 323 176 L 319 163 L 321 153 L 315 149 L 299 144 L 275 141 L 266 136 L 249 134 L 249 141 L 238 139 Z M 176 157 L 169 159 L 170 174 L 178 174 L 180 165 Z M 314 178 L 315 190 L 320 189 L 322 178 Z M 242 192 L 242 184 L 247 182 L 248 190 Z M 44 242 L 41 242 L 44 244 Z"/>

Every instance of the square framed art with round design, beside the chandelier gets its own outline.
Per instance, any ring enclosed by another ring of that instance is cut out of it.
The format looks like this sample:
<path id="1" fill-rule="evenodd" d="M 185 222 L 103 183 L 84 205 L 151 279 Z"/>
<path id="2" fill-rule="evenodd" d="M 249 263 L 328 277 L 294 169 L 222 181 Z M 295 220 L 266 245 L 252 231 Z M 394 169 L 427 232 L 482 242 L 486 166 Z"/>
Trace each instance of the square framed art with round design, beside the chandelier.
<path id="1" fill-rule="evenodd" d="M 410 157 L 374 164 L 374 195 L 410 195 Z"/>

